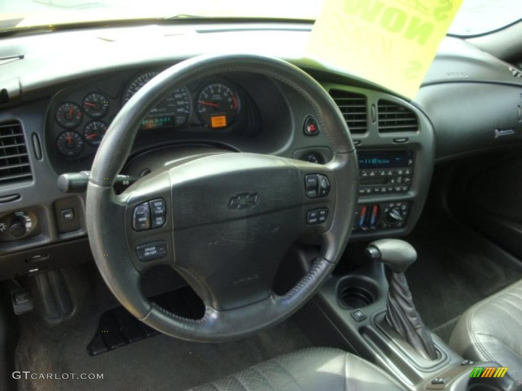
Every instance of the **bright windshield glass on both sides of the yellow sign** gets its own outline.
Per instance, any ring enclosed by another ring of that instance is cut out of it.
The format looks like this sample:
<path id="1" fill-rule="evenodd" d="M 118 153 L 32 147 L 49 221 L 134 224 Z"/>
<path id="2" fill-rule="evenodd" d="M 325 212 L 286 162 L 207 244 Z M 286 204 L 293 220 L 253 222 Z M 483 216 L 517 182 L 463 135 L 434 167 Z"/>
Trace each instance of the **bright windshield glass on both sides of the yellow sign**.
<path id="1" fill-rule="evenodd" d="M 321 12 L 324 1 L 0 0 L 0 31 L 92 21 L 176 17 L 315 20 Z M 401 1 L 418 3 L 420 0 Z M 449 33 L 483 34 L 509 25 L 520 18 L 522 18 L 520 0 L 464 0 Z"/>

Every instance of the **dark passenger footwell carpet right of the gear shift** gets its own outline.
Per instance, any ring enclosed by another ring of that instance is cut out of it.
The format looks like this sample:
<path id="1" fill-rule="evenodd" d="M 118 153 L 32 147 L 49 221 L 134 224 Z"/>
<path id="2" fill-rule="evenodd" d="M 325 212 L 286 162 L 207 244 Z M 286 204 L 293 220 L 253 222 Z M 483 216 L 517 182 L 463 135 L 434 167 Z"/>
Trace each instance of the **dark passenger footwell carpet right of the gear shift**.
<path id="1" fill-rule="evenodd" d="M 448 219 L 423 215 L 406 240 L 418 253 L 406 272 L 413 300 L 425 324 L 446 341 L 469 307 L 522 278 L 478 250 L 476 241 L 485 238 Z"/>

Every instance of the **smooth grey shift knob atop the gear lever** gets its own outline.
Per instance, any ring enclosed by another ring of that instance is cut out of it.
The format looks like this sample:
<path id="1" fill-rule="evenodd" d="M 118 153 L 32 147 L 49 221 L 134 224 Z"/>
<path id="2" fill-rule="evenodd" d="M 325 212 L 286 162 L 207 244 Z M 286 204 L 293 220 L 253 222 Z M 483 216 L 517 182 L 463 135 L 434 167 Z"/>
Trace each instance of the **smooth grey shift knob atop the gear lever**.
<path id="1" fill-rule="evenodd" d="M 387 265 L 394 273 L 404 273 L 417 260 L 417 251 L 410 243 L 399 239 L 382 239 L 366 247 L 366 255 Z"/>

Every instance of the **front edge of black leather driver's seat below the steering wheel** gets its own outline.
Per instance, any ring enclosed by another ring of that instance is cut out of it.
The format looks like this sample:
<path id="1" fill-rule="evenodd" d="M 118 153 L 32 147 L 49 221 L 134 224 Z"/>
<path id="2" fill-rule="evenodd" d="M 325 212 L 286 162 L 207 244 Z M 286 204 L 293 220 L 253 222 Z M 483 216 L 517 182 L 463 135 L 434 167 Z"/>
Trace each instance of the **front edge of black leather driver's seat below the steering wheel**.
<path id="1" fill-rule="evenodd" d="M 194 391 L 404 391 L 375 365 L 339 349 L 311 348 L 262 362 Z"/>

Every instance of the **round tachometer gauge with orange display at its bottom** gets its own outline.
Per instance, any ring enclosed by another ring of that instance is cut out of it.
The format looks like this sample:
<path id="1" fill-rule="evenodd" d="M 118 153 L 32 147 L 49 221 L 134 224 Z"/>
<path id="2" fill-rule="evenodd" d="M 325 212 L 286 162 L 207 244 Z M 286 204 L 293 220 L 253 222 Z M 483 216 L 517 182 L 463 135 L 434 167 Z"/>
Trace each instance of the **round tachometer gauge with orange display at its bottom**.
<path id="1" fill-rule="evenodd" d="M 238 94 L 223 83 L 207 85 L 197 100 L 199 118 L 211 128 L 226 128 L 232 124 L 238 110 Z"/>

